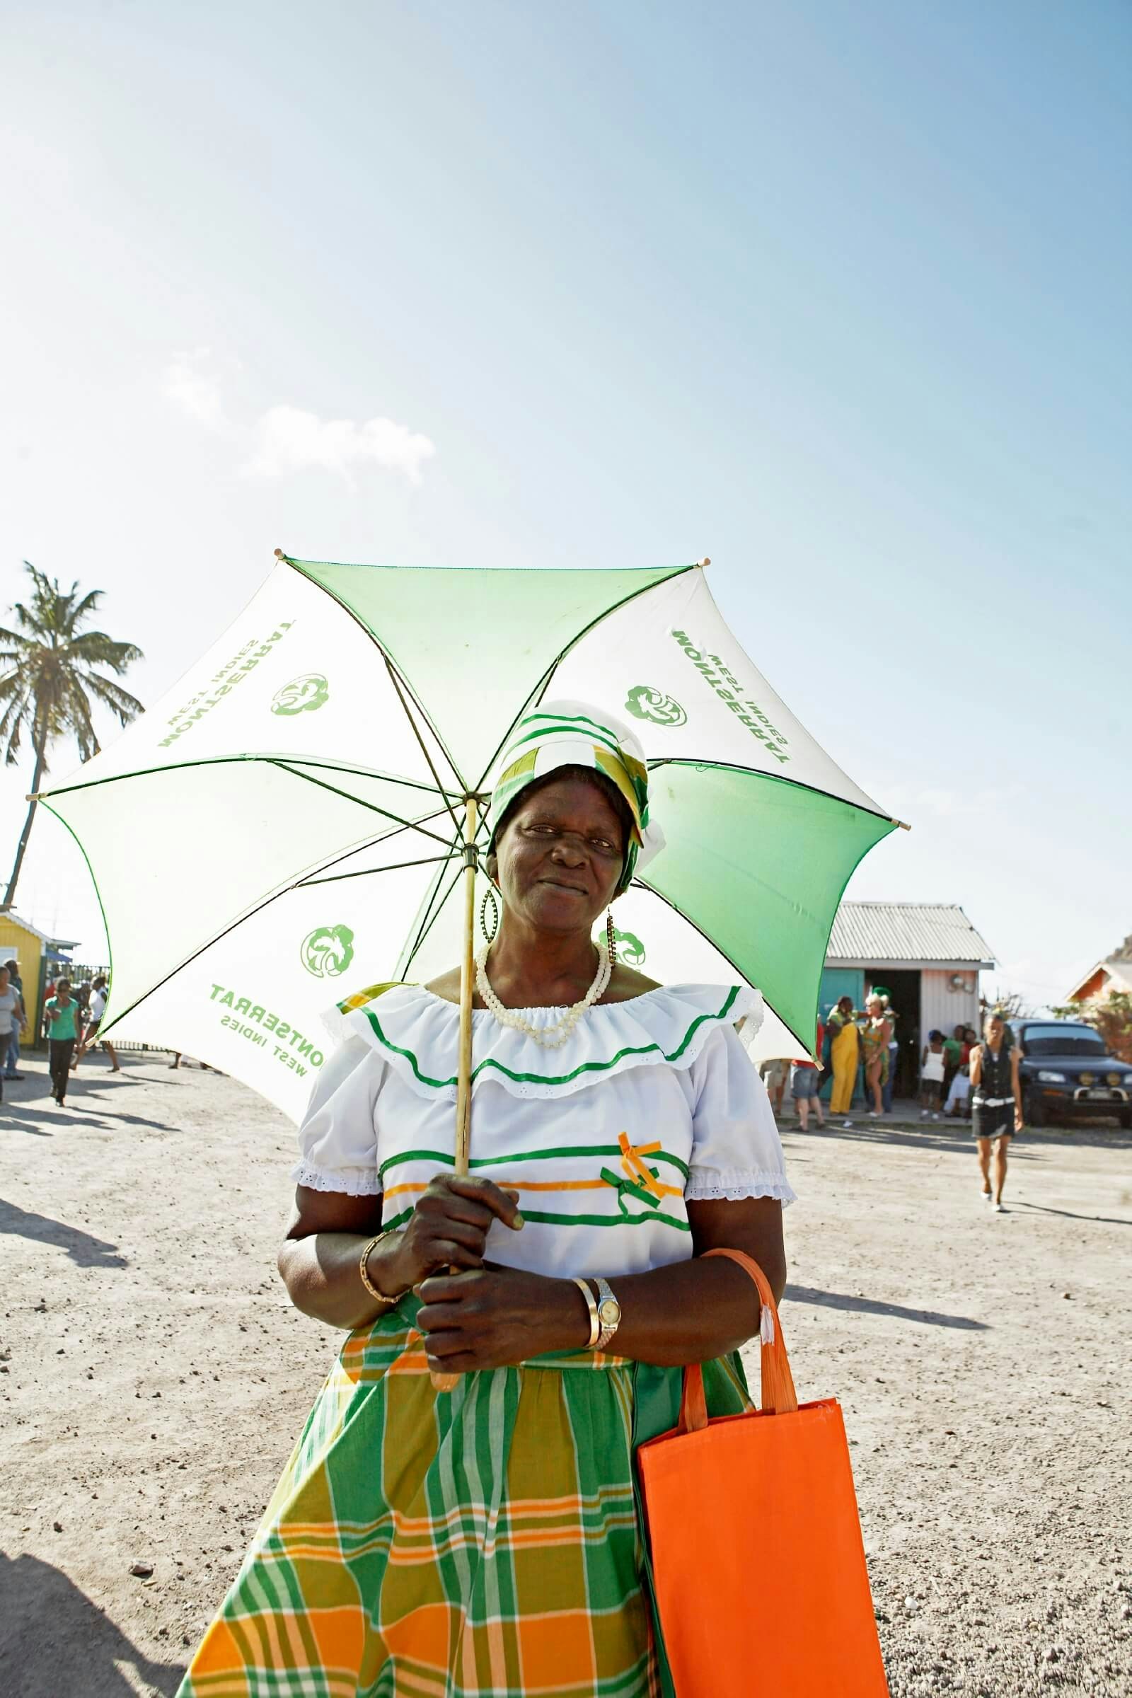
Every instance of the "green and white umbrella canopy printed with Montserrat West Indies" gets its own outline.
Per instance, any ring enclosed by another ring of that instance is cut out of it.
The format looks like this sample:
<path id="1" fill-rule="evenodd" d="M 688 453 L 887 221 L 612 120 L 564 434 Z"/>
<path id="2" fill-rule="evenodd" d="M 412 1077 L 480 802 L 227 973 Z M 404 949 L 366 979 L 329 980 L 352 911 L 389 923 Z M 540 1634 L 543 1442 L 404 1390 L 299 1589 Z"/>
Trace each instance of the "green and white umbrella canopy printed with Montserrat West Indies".
<path id="1" fill-rule="evenodd" d="M 297 1119 L 331 1002 L 457 961 L 465 798 L 487 798 L 548 694 L 608 705 L 648 756 L 667 844 L 614 907 L 623 959 L 669 983 L 738 976 L 767 1000 L 759 1051 L 810 1053 L 837 903 L 896 822 L 755 671 L 694 565 L 280 555 L 156 706 L 42 793 L 98 890 L 104 1031 L 200 1056 Z"/>

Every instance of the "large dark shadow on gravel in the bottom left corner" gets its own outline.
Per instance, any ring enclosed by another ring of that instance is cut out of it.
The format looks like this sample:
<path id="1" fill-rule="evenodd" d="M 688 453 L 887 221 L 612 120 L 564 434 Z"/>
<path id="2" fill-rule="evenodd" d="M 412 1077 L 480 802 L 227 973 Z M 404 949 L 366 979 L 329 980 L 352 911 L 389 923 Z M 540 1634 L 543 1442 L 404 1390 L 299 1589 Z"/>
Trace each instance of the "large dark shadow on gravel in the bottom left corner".
<path id="1" fill-rule="evenodd" d="M 5 1698 L 134 1698 L 134 1671 L 146 1690 L 171 1698 L 183 1664 L 151 1662 L 59 1569 L 39 1557 L 0 1550 L 0 1667 Z"/>

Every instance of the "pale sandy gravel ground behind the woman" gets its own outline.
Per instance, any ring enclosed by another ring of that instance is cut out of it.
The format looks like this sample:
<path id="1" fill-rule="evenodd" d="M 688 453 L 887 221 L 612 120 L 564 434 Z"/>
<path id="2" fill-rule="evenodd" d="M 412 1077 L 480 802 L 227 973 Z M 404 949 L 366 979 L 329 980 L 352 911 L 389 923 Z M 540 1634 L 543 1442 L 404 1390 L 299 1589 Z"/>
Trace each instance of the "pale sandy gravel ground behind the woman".
<path id="1" fill-rule="evenodd" d="M 334 1350 L 275 1275 L 292 1129 L 127 1056 L 0 1107 L 0 1688 L 170 1695 Z M 850 1433 L 894 1698 L 1132 1695 L 1132 1138 L 786 1127 L 782 1307 Z M 131 1567 L 151 1569 L 132 1574 Z M 759 1596 L 752 1576 L 752 1601 Z"/>

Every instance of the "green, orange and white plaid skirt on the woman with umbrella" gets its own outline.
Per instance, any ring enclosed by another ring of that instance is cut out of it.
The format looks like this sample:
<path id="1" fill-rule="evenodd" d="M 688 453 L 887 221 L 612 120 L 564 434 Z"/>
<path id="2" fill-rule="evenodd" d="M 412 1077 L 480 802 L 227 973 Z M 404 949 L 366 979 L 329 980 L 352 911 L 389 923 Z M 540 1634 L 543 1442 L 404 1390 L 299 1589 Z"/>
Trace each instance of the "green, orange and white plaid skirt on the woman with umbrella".
<path id="1" fill-rule="evenodd" d="M 594 1352 L 436 1394 L 416 1299 L 351 1333 L 178 1698 L 657 1698 L 633 1452 L 679 1369 Z M 708 1363 L 713 1413 L 750 1408 Z"/>

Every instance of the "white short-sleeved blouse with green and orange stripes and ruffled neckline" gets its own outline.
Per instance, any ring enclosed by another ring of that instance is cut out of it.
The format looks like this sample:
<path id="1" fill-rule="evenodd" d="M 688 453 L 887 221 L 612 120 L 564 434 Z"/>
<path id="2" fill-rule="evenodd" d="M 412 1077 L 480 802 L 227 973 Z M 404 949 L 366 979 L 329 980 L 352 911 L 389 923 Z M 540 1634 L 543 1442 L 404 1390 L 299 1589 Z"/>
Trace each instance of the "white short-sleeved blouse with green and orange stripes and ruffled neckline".
<path id="1" fill-rule="evenodd" d="M 553 1024 L 562 1009 L 526 1009 Z M 735 1034 L 762 1019 L 740 987 L 670 985 L 589 1009 L 541 1049 L 474 1019 L 472 1173 L 519 1192 L 523 1231 L 487 1257 L 536 1274 L 642 1274 L 692 1253 L 689 1200 L 791 1202 L 765 1087 Z M 299 1185 L 384 1197 L 402 1224 L 453 1167 L 458 1009 L 414 985 L 341 1004 L 341 1039 L 299 1127 Z"/>

